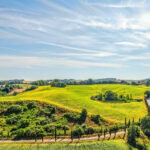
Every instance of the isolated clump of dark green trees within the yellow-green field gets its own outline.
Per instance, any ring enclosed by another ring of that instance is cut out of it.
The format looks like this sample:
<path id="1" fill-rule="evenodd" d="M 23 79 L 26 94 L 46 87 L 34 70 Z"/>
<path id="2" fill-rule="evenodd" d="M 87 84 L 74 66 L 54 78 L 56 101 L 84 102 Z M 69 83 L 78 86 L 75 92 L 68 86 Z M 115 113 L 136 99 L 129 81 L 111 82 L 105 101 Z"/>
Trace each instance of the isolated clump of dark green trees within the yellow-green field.
<path id="1" fill-rule="evenodd" d="M 92 96 L 92 100 L 98 100 L 98 101 L 124 101 L 128 102 L 132 100 L 132 95 L 118 95 L 117 93 L 113 91 L 106 91 L 104 94 L 100 93 L 99 95 Z"/>

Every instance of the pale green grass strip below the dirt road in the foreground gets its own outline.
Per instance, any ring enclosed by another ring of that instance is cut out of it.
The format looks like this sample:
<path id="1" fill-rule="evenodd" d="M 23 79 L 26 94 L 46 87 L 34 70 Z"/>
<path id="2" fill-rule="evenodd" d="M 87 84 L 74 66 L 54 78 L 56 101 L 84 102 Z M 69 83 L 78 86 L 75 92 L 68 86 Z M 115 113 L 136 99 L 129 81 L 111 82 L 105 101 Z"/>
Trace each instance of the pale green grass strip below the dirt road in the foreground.
<path id="1" fill-rule="evenodd" d="M 130 150 L 123 140 L 77 144 L 1 144 L 0 150 Z M 133 149 L 136 150 L 136 149 Z"/>

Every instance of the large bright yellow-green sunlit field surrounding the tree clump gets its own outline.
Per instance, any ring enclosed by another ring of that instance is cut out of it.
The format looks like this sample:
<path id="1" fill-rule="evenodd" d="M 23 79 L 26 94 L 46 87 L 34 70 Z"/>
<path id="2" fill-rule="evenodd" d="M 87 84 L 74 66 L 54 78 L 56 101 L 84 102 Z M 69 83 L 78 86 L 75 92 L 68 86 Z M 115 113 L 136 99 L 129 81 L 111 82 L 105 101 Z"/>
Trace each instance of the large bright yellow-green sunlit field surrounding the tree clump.
<path id="1" fill-rule="evenodd" d="M 132 94 L 133 98 L 143 98 L 146 86 L 131 85 L 74 85 L 66 88 L 42 86 L 36 90 L 17 96 L 1 97 L 0 100 L 39 100 L 54 104 L 70 111 L 81 111 L 86 108 L 89 114 L 100 114 L 105 119 L 123 122 L 124 118 L 135 120 L 147 114 L 144 102 L 104 103 L 90 99 L 92 95 L 112 90 L 118 94 Z"/>

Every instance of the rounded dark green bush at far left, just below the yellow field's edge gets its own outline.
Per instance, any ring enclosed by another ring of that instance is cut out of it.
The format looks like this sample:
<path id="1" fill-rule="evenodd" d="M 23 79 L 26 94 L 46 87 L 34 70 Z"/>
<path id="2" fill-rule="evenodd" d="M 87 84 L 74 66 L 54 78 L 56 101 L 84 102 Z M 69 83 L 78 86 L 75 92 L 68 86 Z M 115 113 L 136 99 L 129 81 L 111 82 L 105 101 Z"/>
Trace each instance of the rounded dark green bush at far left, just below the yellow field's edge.
<path id="1" fill-rule="evenodd" d="M 19 114 L 22 112 L 22 108 L 19 105 L 12 105 L 10 106 L 6 111 L 5 115 L 10 115 L 10 114 Z"/>

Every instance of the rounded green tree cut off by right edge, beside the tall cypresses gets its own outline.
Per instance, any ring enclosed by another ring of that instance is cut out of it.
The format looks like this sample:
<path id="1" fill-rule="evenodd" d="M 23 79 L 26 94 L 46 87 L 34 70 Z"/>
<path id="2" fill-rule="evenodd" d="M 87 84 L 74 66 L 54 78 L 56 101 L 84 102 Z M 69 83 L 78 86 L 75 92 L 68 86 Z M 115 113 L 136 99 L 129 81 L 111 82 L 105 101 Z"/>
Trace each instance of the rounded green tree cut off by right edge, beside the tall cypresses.
<path id="1" fill-rule="evenodd" d="M 142 118 L 141 129 L 145 133 L 145 135 L 150 137 L 150 116 L 146 116 L 146 117 Z"/>

